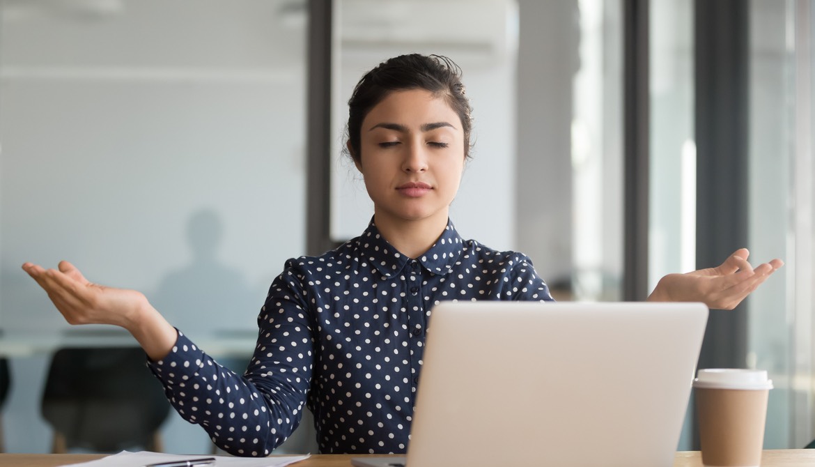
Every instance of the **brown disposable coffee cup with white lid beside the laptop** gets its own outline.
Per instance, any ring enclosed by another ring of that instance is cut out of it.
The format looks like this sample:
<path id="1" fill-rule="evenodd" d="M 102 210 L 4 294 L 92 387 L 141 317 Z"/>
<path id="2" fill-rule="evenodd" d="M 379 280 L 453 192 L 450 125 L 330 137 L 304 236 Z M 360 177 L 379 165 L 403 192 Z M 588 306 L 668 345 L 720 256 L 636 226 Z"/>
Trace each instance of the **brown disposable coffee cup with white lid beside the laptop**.
<path id="1" fill-rule="evenodd" d="M 773 381 L 764 370 L 699 370 L 694 380 L 694 394 L 704 465 L 758 467 L 761 464 L 771 389 Z"/>

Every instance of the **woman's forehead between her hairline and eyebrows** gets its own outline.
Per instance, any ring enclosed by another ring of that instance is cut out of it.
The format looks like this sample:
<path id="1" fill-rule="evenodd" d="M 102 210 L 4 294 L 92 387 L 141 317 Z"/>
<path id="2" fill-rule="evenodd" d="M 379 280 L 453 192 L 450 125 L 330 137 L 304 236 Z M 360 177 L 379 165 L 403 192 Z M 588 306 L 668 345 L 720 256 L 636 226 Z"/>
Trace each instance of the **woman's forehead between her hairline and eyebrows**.
<path id="1" fill-rule="evenodd" d="M 394 90 L 368 112 L 363 120 L 363 131 L 382 122 L 418 126 L 439 121 L 461 130 L 460 118 L 444 95 L 434 95 L 428 90 Z"/>

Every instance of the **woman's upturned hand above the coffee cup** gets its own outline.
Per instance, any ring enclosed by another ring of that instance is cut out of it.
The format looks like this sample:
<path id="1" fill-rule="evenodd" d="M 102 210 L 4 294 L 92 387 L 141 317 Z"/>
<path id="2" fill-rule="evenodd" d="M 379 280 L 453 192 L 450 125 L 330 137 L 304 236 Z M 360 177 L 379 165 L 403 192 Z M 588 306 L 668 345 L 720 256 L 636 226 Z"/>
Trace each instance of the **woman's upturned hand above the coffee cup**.
<path id="1" fill-rule="evenodd" d="M 653 302 L 703 302 L 711 309 L 733 310 L 769 275 L 784 265 L 773 259 L 757 267 L 747 262 L 750 252 L 738 249 L 718 267 L 686 274 L 669 274 L 659 280 L 648 297 Z"/>

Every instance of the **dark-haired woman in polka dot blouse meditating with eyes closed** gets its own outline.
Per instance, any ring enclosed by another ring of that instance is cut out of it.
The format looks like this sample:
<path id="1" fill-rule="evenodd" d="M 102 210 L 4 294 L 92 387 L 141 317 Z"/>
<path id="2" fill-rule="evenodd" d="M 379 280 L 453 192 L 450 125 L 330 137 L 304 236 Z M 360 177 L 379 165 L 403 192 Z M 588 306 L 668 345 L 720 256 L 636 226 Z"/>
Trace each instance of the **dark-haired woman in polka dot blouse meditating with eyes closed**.
<path id="1" fill-rule="evenodd" d="M 368 229 L 319 257 L 291 259 L 258 316 L 244 377 L 220 367 L 142 293 L 88 282 L 68 262 L 23 268 L 71 324 L 126 328 L 174 407 L 239 456 L 266 456 L 314 412 L 320 452 L 405 452 L 430 311 L 443 300 L 552 300 L 529 258 L 463 240 L 449 205 L 469 157 L 460 70 L 403 55 L 367 73 L 349 101 L 347 149 L 374 204 Z M 782 266 L 667 275 L 652 300 L 732 308 Z"/>

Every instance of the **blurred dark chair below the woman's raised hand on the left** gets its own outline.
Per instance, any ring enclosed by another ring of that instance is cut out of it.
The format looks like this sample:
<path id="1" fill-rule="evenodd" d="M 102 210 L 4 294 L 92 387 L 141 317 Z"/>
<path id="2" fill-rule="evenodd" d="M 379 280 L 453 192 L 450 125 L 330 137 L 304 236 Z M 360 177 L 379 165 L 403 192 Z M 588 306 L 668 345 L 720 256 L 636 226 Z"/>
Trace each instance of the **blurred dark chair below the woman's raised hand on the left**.
<path id="1" fill-rule="evenodd" d="M 161 452 L 170 403 L 145 361 L 139 347 L 58 350 L 42 394 L 53 452 Z"/>

